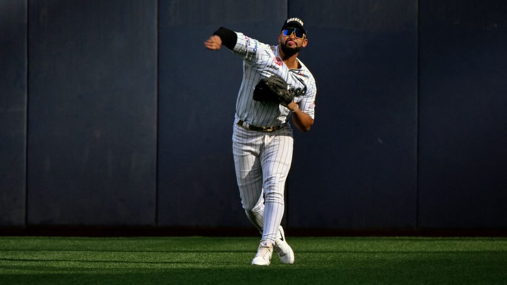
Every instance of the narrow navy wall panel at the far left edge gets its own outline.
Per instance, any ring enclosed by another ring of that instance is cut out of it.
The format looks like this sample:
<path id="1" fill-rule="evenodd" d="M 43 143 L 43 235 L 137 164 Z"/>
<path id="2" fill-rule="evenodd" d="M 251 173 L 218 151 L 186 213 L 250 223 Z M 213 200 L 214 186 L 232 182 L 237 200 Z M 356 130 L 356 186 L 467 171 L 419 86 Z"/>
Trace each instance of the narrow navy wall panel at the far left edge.
<path id="1" fill-rule="evenodd" d="M 0 226 L 25 223 L 26 2 L 0 0 Z"/>

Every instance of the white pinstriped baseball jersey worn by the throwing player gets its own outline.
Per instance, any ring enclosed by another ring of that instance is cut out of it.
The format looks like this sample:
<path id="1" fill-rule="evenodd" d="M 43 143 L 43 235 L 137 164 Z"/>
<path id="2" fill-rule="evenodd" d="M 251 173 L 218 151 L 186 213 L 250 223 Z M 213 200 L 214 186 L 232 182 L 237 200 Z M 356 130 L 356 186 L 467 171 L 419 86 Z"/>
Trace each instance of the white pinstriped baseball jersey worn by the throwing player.
<path id="1" fill-rule="evenodd" d="M 317 88 L 303 62 L 298 59 L 301 68 L 289 69 L 279 56 L 278 46 L 263 44 L 240 32 L 236 34 L 238 39 L 232 52 L 243 57 L 243 81 L 236 101 L 236 121 L 243 120 L 258 127 L 279 126 L 287 122 L 290 111 L 284 106 L 252 99 L 253 89 L 259 80 L 272 75 L 278 75 L 287 82 L 301 111 L 314 119 Z"/>

